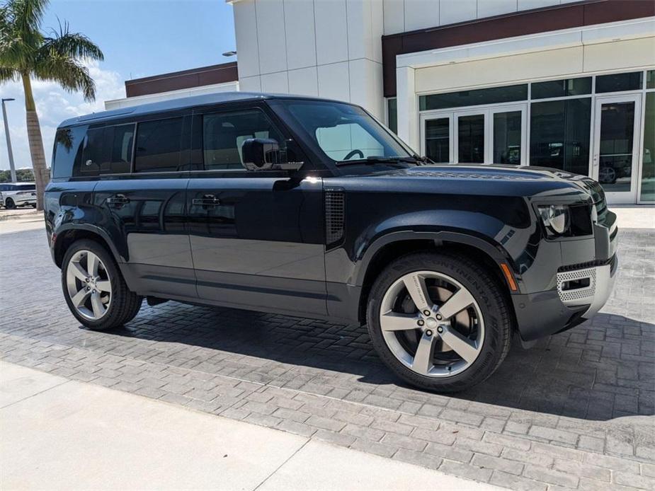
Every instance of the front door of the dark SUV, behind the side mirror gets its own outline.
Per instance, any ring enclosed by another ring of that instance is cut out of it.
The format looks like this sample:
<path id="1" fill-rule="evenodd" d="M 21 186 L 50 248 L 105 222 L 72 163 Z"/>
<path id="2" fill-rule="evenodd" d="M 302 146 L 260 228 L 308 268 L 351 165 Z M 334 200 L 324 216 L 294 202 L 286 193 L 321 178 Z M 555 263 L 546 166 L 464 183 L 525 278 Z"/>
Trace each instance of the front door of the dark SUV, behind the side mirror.
<path id="1" fill-rule="evenodd" d="M 198 295 L 226 306 L 325 314 L 322 180 L 243 165 L 249 138 L 275 139 L 281 159 L 289 158 L 289 137 L 273 121 L 262 106 L 194 112 L 203 170 L 191 173 L 187 206 Z"/>

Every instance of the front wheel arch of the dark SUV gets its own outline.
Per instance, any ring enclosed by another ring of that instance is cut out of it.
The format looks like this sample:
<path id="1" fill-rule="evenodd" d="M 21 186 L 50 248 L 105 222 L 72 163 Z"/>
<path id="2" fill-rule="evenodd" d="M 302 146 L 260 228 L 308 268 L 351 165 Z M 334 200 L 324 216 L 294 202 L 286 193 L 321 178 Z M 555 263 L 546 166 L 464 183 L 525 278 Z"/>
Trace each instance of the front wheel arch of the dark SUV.
<path id="1" fill-rule="evenodd" d="M 358 320 L 361 324 L 366 323 L 366 306 L 368 297 L 375 282 L 375 278 L 391 262 L 402 255 L 419 251 L 431 250 L 434 252 L 448 251 L 472 258 L 481 262 L 485 269 L 499 282 L 501 291 L 506 294 L 508 306 L 511 308 L 512 316 L 516 314 L 511 301 L 511 290 L 508 280 L 503 275 L 501 263 L 510 265 L 511 258 L 506 251 L 496 248 L 482 238 L 471 236 L 467 233 L 451 231 L 434 232 L 393 232 L 378 238 L 364 254 L 358 275 L 358 284 L 361 285 L 360 299 L 358 302 Z"/>

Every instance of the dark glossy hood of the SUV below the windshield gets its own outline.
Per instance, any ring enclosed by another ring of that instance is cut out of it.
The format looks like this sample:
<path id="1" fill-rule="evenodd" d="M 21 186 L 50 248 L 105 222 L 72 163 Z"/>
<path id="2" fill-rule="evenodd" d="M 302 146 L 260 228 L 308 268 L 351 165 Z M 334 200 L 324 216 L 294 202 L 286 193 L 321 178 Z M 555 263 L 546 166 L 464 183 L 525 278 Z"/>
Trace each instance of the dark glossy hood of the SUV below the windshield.
<path id="1" fill-rule="evenodd" d="M 591 178 L 559 169 L 545 167 L 519 167 L 503 165 L 428 165 L 359 175 L 365 180 L 380 180 L 388 189 L 403 191 L 443 192 L 459 195 L 503 195 L 530 198 L 557 198 L 603 200 L 603 190 Z M 410 182 L 411 181 L 411 182 Z M 401 184 L 406 182 L 408 188 Z"/>

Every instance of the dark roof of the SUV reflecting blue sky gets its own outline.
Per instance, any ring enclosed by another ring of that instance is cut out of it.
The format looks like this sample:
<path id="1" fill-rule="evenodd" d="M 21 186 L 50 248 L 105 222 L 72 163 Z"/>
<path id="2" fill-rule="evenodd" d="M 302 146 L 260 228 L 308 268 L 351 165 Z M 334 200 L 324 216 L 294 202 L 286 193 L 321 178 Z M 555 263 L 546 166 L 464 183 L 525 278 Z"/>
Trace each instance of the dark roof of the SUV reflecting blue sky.
<path id="1" fill-rule="evenodd" d="M 163 112 L 176 109 L 193 108 L 196 106 L 229 103 L 238 100 L 255 100 L 255 99 L 309 99 L 309 100 L 328 100 L 317 97 L 292 96 L 290 94 L 273 94 L 261 92 L 217 92 L 203 94 L 201 96 L 183 97 L 178 99 L 160 100 L 156 103 L 147 103 L 130 106 L 129 108 L 112 109 L 108 111 L 91 112 L 89 115 L 71 117 L 62 122 L 59 126 L 71 126 L 84 124 L 86 122 L 99 122 L 110 120 L 115 117 L 124 117 L 127 115 L 144 115 L 152 112 Z"/>

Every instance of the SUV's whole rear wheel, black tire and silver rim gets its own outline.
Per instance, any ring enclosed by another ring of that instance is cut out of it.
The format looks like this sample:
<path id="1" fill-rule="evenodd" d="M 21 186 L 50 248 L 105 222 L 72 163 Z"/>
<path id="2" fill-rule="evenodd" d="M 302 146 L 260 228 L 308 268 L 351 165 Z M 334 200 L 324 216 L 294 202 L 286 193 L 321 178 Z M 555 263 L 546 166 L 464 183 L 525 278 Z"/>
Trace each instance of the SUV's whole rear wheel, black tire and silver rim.
<path id="1" fill-rule="evenodd" d="M 73 243 L 62 262 L 64 298 L 79 322 L 106 330 L 132 320 L 142 298 L 130 291 L 108 250 L 96 241 Z"/>

